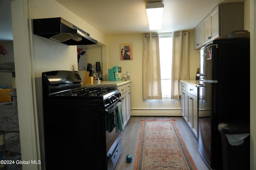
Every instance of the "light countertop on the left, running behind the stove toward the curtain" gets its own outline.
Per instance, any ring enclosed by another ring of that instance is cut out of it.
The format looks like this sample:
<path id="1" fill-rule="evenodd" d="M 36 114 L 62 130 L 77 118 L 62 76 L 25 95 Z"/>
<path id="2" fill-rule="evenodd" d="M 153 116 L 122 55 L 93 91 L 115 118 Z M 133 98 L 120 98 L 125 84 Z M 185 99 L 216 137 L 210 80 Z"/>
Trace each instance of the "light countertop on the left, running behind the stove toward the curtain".
<path id="1" fill-rule="evenodd" d="M 82 87 L 119 87 L 124 84 L 132 82 L 131 80 L 120 80 L 120 81 L 108 81 L 101 80 L 100 84 L 81 84 Z"/>

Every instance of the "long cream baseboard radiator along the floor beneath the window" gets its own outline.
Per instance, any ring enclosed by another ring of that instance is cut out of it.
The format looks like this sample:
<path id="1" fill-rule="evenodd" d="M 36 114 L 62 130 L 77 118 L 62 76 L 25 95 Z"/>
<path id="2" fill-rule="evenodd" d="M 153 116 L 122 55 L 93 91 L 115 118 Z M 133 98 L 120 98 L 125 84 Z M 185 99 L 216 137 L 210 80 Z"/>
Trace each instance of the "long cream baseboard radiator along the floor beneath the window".
<path id="1" fill-rule="evenodd" d="M 181 109 L 132 109 L 132 116 L 182 116 Z"/>

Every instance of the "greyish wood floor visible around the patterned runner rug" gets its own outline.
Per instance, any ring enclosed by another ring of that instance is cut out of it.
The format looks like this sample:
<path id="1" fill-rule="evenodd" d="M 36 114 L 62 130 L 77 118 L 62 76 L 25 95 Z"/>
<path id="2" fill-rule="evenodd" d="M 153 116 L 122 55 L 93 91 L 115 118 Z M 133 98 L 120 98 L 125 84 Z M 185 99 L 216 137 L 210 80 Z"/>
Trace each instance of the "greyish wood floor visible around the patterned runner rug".
<path id="1" fill-rule="evenodd" d="M 134 170 L 142 119 L 175 119 L 178 130 L 182 135 L 182 138 L 194 160 L 194 163 L 196 164 L 197 169 L 209 170 L 198 151 L 198 139 L 194 136 L 183 117 L 178 116 L 132 116 L 122 133 L 122 153 L 115 170 Z M 131 163 L 126 162 L 126 155 L 128 154 L 133 157 L 133 162 Z"/>

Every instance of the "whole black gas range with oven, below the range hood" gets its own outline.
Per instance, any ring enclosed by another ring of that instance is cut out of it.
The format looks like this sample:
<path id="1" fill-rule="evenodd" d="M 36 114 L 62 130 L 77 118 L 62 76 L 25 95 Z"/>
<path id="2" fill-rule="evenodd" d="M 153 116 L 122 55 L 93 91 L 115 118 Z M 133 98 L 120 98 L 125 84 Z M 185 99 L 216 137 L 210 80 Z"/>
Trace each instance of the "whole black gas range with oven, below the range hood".
<path id="1" fill-rule="evenodd" d="M 120 156 L 122 138 L 114 126 L 118 88 L 84 88 L 81 82 L 74 71 L 42 73 L 46 169 L 86 169 L 88 161 L 92 169 L 111 170 Z"/>

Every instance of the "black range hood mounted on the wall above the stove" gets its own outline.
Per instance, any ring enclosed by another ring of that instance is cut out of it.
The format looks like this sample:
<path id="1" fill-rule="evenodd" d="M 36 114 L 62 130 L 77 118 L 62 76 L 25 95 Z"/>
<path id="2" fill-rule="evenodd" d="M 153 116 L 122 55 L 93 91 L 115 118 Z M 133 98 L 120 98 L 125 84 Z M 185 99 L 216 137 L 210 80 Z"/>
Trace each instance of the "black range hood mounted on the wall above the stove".
<path id="1" fill-rule="evenodd" d="M 67 45 L 92 45 L 98 41 L 82 29 L 63 18 L 43 18 L 33 20 L 34 34 Z"/>

